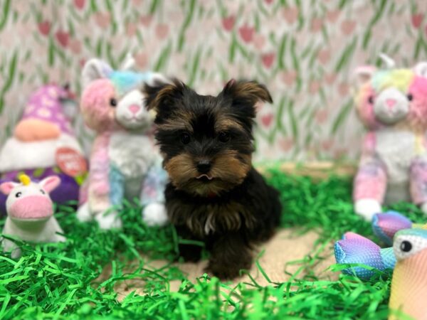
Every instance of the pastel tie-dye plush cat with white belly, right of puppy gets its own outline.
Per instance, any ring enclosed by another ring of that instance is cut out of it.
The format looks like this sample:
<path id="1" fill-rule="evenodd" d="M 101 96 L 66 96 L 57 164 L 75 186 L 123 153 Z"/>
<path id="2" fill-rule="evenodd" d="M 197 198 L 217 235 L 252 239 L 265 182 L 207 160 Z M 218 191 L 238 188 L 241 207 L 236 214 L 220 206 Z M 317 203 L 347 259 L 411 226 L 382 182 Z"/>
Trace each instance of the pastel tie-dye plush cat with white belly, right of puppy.
<path id="1" fill-rule="evenodd" d="M 371 220 L 382 203 L 413 201 L 427 213 L 427 63 L 357 69 L 355 103 L 369 130 L 354 179 L 354 210 Z"/>

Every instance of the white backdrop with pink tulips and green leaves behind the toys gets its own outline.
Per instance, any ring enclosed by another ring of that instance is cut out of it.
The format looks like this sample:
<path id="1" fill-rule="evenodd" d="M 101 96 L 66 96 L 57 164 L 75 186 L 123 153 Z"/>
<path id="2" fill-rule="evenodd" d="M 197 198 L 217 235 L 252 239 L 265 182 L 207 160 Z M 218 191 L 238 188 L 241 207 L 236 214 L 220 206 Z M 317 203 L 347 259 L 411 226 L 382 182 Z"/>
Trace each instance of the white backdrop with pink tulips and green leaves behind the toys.
<path id="1" fill-rule="evenodd" d="M 174 75 L 216 94 L 229 78 L 264 82 L 257 159 L 354 159 L 363 128 L 352 70 L 379 52 L 427 59 L 425 0 L 0 0 L 0 142 L 43 82 L 80 92 L 100 57 Z M 80 124 L 81 125 L 81 124 Z M 3 130 L 5 128 L 5 130 Z"/>

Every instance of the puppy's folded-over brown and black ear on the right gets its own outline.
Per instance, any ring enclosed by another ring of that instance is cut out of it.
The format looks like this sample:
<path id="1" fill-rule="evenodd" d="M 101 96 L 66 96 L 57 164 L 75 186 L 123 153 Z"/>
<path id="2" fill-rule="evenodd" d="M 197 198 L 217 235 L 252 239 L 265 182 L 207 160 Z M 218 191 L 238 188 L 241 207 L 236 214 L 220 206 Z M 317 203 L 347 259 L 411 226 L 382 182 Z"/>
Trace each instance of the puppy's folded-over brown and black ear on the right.
<path id="1" fill-rule="evenodd" d="M 220 95 L 231 97 L 233 105 L 255 107 L 255 103 L 258 101 L 273 102 L 267 87 L 255 81 L 236 81 L 232 79 L 227 82 Z"/>

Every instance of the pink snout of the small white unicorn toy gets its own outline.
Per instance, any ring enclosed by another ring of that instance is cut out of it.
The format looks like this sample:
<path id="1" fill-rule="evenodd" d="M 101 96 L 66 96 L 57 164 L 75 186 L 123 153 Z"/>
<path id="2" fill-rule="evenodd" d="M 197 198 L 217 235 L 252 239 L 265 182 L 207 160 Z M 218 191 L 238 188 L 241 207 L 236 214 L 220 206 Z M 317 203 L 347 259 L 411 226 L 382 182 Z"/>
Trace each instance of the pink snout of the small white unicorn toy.
<path id="1" fill-rule="evenodd" d="M 53 215 L 52 202 L 46 196 L 26 196 L 13 203 L 8 214 L 18 219 L 48 218 Z"/>

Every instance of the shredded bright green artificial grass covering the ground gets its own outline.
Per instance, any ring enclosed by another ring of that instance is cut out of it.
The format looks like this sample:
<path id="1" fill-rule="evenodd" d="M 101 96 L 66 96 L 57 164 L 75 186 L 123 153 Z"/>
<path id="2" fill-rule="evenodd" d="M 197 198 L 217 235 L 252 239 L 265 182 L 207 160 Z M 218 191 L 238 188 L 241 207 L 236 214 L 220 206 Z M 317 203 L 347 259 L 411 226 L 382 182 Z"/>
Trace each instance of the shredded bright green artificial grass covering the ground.
<path id="1" fill-rule="evenodd" d="M 322 260 L 323 248 L 346 231 L 372 237 L 369 223 L 352 211 L 351 180 L 313 183 L 275 169 L 268 176 L 284 204 L 283 228 L 320 232 L 313 254 L 297 262 L 300 268 L 288 282 L 261 286 L 253 280 L 233 287 L 206 274 L 191 282 L 172 265 L 180 241 L 172 226 L 147 228 L 140 208 L 127 206 L 123 230 L 102 232 L 95 223 L 79 223 L 73 209 L 63 206 L 56 216 L 67 242 L 23 244 L 19 260 L 0 256 L 0 319 L 386 319 L 389 272 L 368 282 L 342 274 L 325 281 L 301 272 Z M 423 221 L 413 205 L 394 209 Z M 152 258 L 171 263 L 153 270 L 147 267 Z M 107 265 L 111 274 L 100 280 Z M 141 280 L 144 294 L 132 292 L 118 302 L 114 287 L 125 279 Z M 175 292 L 172 280 L 181 283 Z"/>

